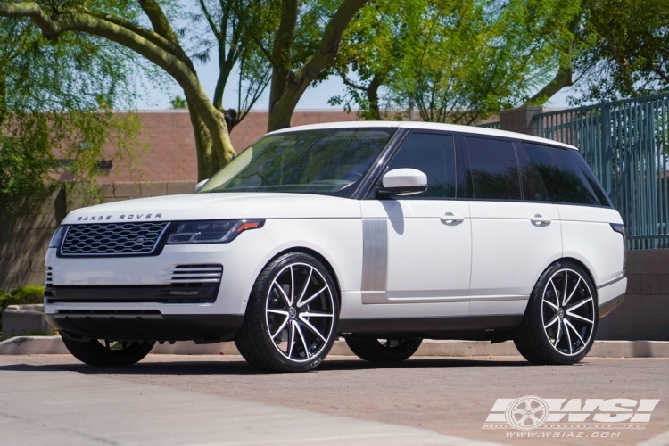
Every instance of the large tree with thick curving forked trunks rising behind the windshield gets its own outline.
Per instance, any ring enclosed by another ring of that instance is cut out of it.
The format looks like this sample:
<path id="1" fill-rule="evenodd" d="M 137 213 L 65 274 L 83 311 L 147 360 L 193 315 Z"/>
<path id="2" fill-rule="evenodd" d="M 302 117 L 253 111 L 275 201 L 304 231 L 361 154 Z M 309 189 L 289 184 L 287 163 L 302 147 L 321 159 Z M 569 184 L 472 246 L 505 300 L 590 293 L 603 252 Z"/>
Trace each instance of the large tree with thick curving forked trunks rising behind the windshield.
<path id="1" fill-rule="evenodd" d="M 0 16 L 29 19 L 51 40 L 68 34 L 103 37 L 164 70 L 177 81 L 186 96 L 197 148 L 198 178 L 204 179 L 235 155 L 225 114 L 217 107 L 218 98 L 222 97 L 221 88 L 227 84 L 226 73 L 240 61 L 262 72 L 258 53 L 246 54 L 245 49 L 257 49 L 271 65 L 268 129 L 288 127 L 301 95 L 334 60 L 343 30 L 365 3 L 366 0 L 342 0 L 341 4 L 335 0 L 221 1 L 218 13 L 211 13 L 213 2 L 199 1 L 201 15 L 218 45 L 221 74 L 214 103 L 204 92 L 194 65 L 198 57 L 205 60 L 208 51 L 194 56 L 187 54 L 179 38 L 185 36 L 187 30 L 175 30 L 169 20 L 169 8 L 173 10 L 175 6 L 172 2 L 165 3 L 165 8 L 156 0 L 139 0 L 138 4 L 130 0 L 0 3 Z M 268 7 L 263 7 L 264 4 Z M 268 12 L 278 14 L 269 14 L 279 19 L 277 31 L 270 31 L 272 21 L 262 21 Z M 295 34 L 298 18 L 312 17 L 318 19 L 315 23 L 322 29 L 320 36 L 311 45 L 301 48 L 310 52 L 301 51 L 300 58 L 294 57 L 298 54 L 296 45 L 303 42 Z M 225 48 L 222 43 L 226 44 Z M 254 75 L 247 80 L 262 85 L 261 78 L 258 80 Z"/>

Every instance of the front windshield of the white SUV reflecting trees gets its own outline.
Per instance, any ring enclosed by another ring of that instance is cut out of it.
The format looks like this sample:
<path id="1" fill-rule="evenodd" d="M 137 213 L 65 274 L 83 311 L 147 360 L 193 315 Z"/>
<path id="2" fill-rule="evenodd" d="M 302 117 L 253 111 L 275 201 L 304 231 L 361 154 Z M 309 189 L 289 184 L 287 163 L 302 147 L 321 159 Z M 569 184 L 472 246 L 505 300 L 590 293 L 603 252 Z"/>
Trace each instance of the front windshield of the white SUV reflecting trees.
<path id="1" fill-rule="evenodd" d="M 208 192 L 352 194 L 395 128 L 328 128 L 263 136 L 202 186 Z"/>

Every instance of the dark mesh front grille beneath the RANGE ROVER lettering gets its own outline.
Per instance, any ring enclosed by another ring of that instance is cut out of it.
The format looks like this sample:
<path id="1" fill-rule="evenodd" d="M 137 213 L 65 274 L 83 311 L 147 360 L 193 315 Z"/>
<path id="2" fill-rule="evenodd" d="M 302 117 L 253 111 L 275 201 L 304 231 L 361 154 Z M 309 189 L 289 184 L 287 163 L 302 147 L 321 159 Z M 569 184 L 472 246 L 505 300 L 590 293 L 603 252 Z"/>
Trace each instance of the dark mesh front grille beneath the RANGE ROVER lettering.
<path id="1" fill-rule="evenodd" d="M 62 256 L 152 254 L 168 222 L 94 223 L 68 227 Z"/>

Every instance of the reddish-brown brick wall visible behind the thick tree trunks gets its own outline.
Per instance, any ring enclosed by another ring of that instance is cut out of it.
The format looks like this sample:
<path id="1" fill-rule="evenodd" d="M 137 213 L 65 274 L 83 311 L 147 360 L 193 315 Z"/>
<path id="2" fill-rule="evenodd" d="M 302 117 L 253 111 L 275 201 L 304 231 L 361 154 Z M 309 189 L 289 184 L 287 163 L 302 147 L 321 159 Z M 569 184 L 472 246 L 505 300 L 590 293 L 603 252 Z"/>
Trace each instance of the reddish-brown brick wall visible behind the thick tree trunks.
<path id="1" fill-rule="evenodd" d="M 188 111 L 140 111 L 138 114 L 143 126 L 139 139 L 145 143 L 146 150 L 137 161 L 114 161 L 109 173 L 99 177 L 100 183 L 195 181 L 197 156 Z M 357 116 L 343 111 L 295 111 L 292 123 L 300 126 L 343 120 L 357 120 Z M 267 122 L 267 111 L 250 112 L 230 133 L 235 149 L 243 150 L 267 133 Z M 110 146 L 105 152 L 110 156 L 114 151 Z"/>

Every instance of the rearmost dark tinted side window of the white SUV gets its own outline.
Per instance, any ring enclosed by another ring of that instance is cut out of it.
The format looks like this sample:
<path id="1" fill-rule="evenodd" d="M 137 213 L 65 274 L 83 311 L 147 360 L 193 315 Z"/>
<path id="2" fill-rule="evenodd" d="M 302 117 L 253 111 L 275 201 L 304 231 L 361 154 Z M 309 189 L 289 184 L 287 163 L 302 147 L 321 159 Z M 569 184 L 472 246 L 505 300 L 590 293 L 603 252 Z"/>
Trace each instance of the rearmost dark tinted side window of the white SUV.
<path id="1" fill-rule="evenodd" d="M 548 189 L 550 201 L 610 206 L 580 153 L 547 145 L 524 146 Z"/>

